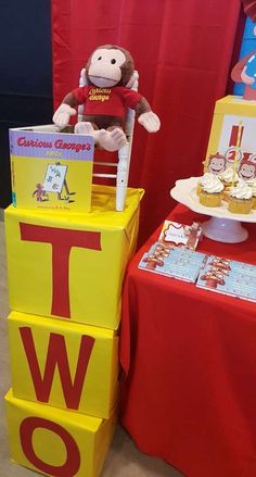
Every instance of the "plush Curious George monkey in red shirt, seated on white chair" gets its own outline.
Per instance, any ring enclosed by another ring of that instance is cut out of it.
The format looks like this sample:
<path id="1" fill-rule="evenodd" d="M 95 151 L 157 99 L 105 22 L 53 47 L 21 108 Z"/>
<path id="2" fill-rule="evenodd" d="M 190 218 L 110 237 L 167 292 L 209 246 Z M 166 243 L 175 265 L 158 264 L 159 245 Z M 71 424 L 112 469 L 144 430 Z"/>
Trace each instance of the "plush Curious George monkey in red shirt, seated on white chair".
<path id="1" fill-rule="evenodd" d="M 159 129 L 159 118 L 137 91 L 130 89 L 135 74 L 133 60 L 124 48 L 104 45 L 97 48 L 86 65 L 88 86 L 74 89 L 65 96 L 53 115 L 59 127 L 67 126 L 74 109 L 84 105 L 82 122 L 75 133 L 89 134 L 107 151 L 116 151 L 126 143 L 123 130 L 127 108 L 136 111 L 138 122 L 149 133 Z"/>

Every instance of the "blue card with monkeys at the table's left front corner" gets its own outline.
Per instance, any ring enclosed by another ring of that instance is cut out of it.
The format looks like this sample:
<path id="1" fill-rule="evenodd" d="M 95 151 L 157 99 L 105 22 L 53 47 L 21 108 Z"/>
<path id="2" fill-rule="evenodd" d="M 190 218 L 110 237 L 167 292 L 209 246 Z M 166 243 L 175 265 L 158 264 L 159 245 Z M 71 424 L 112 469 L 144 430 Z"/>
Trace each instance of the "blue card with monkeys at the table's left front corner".
<path id="1" fill-rule="evenodd" d="M 204 253 L 157 241 L 144 253 L 139 268 L 195 283 L 205 256 Z"/>

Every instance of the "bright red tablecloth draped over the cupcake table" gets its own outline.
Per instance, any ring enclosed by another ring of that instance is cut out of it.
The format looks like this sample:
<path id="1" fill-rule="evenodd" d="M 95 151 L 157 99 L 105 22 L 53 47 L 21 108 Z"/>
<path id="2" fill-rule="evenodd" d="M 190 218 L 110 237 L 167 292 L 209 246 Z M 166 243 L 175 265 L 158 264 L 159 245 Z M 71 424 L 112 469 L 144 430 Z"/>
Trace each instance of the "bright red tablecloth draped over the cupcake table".
<path id="1" fill-rule="evenodd" d="M 168 218 L 202 216 L 178 205 Z M 256 264 L 248 239 L 197 250 Z M 141 451 L 189 477 L 256 476 L 256 304 L 138 269 L 131 261 L 120 336 L 121 423 Z"/>

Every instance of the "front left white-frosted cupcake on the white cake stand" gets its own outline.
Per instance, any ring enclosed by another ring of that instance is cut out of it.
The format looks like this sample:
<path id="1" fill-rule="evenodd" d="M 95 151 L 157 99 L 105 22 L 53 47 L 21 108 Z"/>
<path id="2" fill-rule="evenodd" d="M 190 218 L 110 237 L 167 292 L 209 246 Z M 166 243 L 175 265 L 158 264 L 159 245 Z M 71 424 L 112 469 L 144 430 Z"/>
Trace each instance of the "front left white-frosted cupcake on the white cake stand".
<path id="1" fill-rule="evenodd" d="M 223 185 L 218 177 L 209 174 L 199 194 L 200 203 L 206 208 L 218 208 L 221 204 L 222 190 Z"/>

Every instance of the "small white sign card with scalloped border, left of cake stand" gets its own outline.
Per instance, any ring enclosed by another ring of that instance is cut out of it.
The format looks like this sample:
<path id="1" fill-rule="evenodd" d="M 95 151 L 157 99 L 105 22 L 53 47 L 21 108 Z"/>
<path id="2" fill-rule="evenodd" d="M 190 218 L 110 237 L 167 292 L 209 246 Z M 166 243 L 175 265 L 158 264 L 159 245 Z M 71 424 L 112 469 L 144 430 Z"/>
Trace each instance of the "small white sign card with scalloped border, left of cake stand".
<path id="1" fill-rule="evenodd" d="M 202 227 L 194 222 L 192 225 L 165 221 L 161 230 L 159 240 L 163 243 L 195 250 L 201 238 Z"/>

